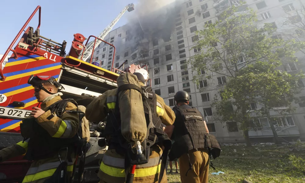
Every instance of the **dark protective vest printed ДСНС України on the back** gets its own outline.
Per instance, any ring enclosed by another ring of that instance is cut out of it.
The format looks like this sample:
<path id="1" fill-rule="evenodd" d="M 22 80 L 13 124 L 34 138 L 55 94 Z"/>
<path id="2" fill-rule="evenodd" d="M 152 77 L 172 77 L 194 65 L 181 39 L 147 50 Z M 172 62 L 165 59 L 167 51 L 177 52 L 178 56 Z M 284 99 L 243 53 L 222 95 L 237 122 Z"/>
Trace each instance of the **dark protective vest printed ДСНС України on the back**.
<path id="1" fill-rule="evenodd" d="M 201 113 L 194 107 L 187 109 L 183 106 L 175 106 L 173 109 L 177 109 L 182 114 L 182 118 L 176 118 L 176 120 L 181 120 L 182 131 L 186 135 L 175 134 L 175 142 L 169 153 L 169 159 L 179 158 L 189 150 L 199 148 L 209 148 L 213 158 L 218 157 L 220 145 L 213 135 L 206 132 Z"/>

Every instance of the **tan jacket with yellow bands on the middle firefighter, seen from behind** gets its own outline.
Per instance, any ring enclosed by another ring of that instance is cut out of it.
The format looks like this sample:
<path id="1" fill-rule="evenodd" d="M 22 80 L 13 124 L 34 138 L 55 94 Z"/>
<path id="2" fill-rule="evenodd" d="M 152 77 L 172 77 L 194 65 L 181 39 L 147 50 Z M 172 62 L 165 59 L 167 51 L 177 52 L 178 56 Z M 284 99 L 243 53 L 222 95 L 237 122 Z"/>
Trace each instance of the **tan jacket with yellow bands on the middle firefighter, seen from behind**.
<path id="1" fill-rule="evenodd" d="M 126 73 L 129 74 L 129 73 Z M 142 74 L 140 73 L 134 73 L 136 77 L 139 80 L 139 83 L 142 87 L 144 87 L 145 79 Z M 152 91 L 151 91 L 152 92 Z M 112 89 L 108 90 L 103 95 L 99 96 L 98 98 L 94 99 L 89 106 L 87 106 L 85 116 L 90 121 L 98 122 L 101 119 L 104 119 L 107 114 L 109 113 L 107 117 L 107 124 L 105 128 L 105 132 L 107 134 L 110 133 L 109 125 L 114 123 L 113 121 L 110 121 L 111 118 L 109 117 L 111 113 L 115 113 L 115 106 L 116 104 L 116 96 L 118 93 L 118 89 Z M 159 97 L 156 94 L 153 94 L 151 96 L 156 97 L 157 101 L 157 108 L 156 108 L 156 117 L 158 120 L 161 120 L 163 124 L 165 125 L 172 125 L 175 120 L 175 114 L 172 111 L 172 109 L 165 105 L 163 99 Z M 122 110 L 122 109 L 120 109 Z M 123 109 L 124 110 L 124 109 Z M 143 110 L 143 108 L 141 109 Z M 109 120 L 110 119 L 110 120 Z M 113 118 L 112 118 L 113 120 Z M 161 124 L 160 124 L 161 126 Z M 160 133 L 163 133 L 162 126 L 160 127 L 161 131 Z M 111 132 L 112 133 L 112 132 Z M 104 136 L 105 133 L 103 134 Z M 110 134 L 111 136 L 112 134 Z M 167 135 L 166 135 L 167 137 Z M 108 140 L 107 140 L 108 141 Z M 108 143 L 108 150 L 105 152 L 102 162 L 100 164 L 100 170 L 98 173 L 98 177 L 100 178 L 100 183 L 124 183 L 126 174 L 128 173 L 128 170 L 126 168 L 126 159 L 127 155 L 124 155 L 124 152 L 120 152 L 120 148 L 118 148 L 115 142 L 115 137 L 111 137 L 110 144 Z M 170 140 L 169 140 L 170 142 Z M 170 143 L 171 144 L 171 143 Z M 123 150 L 124 151 L 124 150 Z M 165 150 L 164 150 L 165 153 Z M 159 145 L 155 144 L 151 146 L 151 153 L 149 156 L 149 161 L 146 164 L 137 165 L 135 170 L 135 176 L 133 179 L 133 182 L 141 182 L 141 183 L 157 183 L 158 178 L 160 174 L 162 175 L 162 179 L 160 179 L 160 182 L 166 183 L 166 173 L 165 173 L 165 164 L 166 164 L 166 158 L 165 156 L 165 163 L 164 163 L 164 170 L 161 170 L 161 156 L 162 156 L 162 149 Z M 163 160 L 163 159 L 162 159 Z M 126 170 L 126 171 L 125 171 Z M 162 171 L 162 172 L 161 172 Z M 126 173 L 127 172 L 127 173 Z"/>

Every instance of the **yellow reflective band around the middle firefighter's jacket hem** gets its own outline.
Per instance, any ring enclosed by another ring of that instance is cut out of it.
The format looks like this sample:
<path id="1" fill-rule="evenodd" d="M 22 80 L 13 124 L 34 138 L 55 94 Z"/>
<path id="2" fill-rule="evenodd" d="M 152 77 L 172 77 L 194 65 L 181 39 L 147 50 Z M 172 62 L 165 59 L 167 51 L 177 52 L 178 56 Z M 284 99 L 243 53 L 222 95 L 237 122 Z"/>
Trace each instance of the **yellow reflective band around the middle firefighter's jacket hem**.
<path id="1" fill-rule="evenodd" d="M 160 173 L 161 163 L 157 166 L 150 168 L 136 168 L 134 177 L 147 177 L 151 175 L 155 175 Z M 105 174 L 108 174 L 113 177 L 125 177 L 125 169 L 114 168 L 105 165 L 101 162 L 100 170 L 102 170 Z"/>

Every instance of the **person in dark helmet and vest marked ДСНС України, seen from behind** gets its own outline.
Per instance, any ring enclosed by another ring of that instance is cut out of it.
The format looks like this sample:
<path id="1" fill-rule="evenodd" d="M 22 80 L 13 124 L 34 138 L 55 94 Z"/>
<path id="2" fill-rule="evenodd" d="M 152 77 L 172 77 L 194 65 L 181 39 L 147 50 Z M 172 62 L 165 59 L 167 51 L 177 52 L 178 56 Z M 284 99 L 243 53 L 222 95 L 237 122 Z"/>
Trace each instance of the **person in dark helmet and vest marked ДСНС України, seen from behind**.
<path id="1" fill-rule="evenodd" d="M 180 179 L 182 183 L 208 183 L 209 151 L 216 158 L 220 146 L 216 138 L 209 135 L 202 114 L 189 106 L 190 96 L 186 91 L 178 91 L 173 110 L 176 120 L 165 128 L 168 136 L 175 140 L 169 153 L 169 159 L 179 158 Z"/>

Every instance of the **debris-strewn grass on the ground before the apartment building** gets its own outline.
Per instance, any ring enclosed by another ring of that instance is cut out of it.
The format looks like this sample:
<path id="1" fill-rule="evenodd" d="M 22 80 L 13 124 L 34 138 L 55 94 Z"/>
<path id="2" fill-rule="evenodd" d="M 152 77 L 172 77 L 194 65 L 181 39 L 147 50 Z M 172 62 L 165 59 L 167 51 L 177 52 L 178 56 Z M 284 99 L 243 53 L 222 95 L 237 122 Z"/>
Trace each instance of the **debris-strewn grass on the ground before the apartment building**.
<path id="1" fill-rule="evenodd" d="M 223 146 L 212 162 L 216 170 L 209 168 L 209 183 L 242 183 L 244 178 L 253 183 L 305 183 L 305 144 L 301 143 Z M 225 174 L 211 175 L 218 171 Z M 168 182 L 181 182 L 180 175 L 168 174 Z"/>

